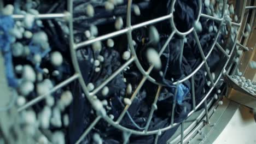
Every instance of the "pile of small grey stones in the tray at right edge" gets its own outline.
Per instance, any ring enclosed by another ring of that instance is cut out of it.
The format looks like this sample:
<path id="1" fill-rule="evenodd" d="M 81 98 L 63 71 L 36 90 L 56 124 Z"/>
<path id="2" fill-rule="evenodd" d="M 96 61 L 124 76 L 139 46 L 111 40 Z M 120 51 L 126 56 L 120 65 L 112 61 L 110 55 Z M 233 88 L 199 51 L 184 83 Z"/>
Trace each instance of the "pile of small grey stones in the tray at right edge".
<path id="1" fill-rule="evenodd" d="M 250 79 L 238 75 L 234 75 L 232 78 L 239 86 L 245 88 L 249 93 L 252 95 L 256 94 L 256 82 L 252 82 Z"/>

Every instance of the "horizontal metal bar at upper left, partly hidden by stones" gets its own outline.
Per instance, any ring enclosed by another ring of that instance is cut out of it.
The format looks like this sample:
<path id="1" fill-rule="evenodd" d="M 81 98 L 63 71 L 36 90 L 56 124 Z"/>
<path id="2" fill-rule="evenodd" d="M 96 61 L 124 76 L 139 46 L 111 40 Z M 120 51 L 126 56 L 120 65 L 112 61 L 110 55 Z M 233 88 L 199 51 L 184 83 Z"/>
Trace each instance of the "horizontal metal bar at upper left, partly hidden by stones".
<path id="1" fill-rule="evenodd" d="M 34 15 L 35 19 L 56 19 L 56 18 L 63 18 L 67 16 L 67 14 L 64 13 L 59 13 L 59 14 L 38 14 L 38 15 Z M 13 17 L 13 19 L 15 20 L 22 20 L 25 18 L 25 15 L 11 15 L 11 17 Z"/>

